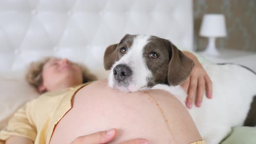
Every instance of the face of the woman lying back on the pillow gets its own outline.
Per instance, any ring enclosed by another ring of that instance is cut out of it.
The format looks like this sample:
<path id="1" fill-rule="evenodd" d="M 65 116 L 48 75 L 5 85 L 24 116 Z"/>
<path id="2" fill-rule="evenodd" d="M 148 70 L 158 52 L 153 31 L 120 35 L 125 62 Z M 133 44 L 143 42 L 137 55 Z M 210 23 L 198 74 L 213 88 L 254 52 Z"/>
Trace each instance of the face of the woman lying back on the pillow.
<path id="1" fill-rule="evenodd" d="M 83 81 L 81 69 L 68 59 L 50 59 L 43 66 L 42 75 L 39 92 L 65 89 Z"/>

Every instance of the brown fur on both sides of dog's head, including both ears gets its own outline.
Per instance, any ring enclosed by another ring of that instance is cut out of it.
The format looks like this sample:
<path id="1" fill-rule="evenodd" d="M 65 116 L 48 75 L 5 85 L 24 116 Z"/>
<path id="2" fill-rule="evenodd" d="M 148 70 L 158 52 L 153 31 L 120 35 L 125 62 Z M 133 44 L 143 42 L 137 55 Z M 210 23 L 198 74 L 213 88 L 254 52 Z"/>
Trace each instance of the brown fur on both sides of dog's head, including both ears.
<path id="1" fill-rule="evenodd" d="M 129 51 L 134 38 L 138 35 L 125 35 L 120 43 L 108 46 L 104 55 L 104 67 L 111 69 L 114 62 L 121 59 L 124 53 L 121 49 Z M 152 58 L 151 54 L 156 53 L 157 58 Z M 152 76 L 147 79 L 148 87 L 157 84 L 180 85 L 184 82 L 194 68 L 193 60 L 184 55 L 169 40 L 157 36 L 150 36 L 148 43 L 143 48 L 143 59 Z"/>

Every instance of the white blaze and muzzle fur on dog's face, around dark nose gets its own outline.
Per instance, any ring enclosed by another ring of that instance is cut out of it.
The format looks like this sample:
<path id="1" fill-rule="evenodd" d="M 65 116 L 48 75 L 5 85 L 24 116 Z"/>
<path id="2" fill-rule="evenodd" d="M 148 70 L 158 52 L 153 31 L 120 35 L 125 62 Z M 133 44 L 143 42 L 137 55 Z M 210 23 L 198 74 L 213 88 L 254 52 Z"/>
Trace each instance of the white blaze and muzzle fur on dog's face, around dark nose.
<path id="1" fill-rule="evenodd" d="M 151 71 L 148 69 L 144 59 L 143 59 L 143 48 L 148 43 L 148 39 L 150 36 L 137 36 L 131 48 L 128 50 L 128 53 L 125 56 L 122 56 L 121 59 L 112 66 L 111 73 L 108 77 L 108 85 L 112 88 L 116 88 L 123 92 L 135 92 L 141 90 L 142 88 L 146 88 L 147 86 L 147 77 L 152 77 Z M 132 69 L 132 80 L 129 83 L 129 87 L 120 87 L 117 86 L 113 74 L 113 69 L 116 65 L 126 64 L 129 65 L 130 69 Z"/>

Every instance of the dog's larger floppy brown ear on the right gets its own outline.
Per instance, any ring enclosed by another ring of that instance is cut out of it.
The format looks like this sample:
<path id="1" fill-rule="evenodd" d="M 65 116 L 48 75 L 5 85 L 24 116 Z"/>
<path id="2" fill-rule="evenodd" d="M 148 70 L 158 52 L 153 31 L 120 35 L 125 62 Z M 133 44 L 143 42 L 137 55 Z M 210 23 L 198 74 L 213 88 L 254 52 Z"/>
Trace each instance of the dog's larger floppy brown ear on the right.
<path id="1" fill-rule="evenodd" d="M 194 68 L 194 62 L 171 43 L 171 60 L 169 62 L 167 79 L 170 85 L 183 83 Z"/>

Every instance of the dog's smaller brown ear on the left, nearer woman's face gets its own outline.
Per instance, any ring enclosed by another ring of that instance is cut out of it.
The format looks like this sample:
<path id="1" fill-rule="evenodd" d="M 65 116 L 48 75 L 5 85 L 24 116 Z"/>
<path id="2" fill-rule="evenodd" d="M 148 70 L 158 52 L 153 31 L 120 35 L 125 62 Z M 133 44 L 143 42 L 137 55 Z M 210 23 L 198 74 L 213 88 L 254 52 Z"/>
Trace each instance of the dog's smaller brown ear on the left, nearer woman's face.
<path id="1" fill-rule="evenodd" d="M 105 70 L 111 69 L 112 65 L 116 61 L 116 52 L 115 49 L 118 44 L 110 45 L 107 47 L 104 53 L 104 68 Z"/>

